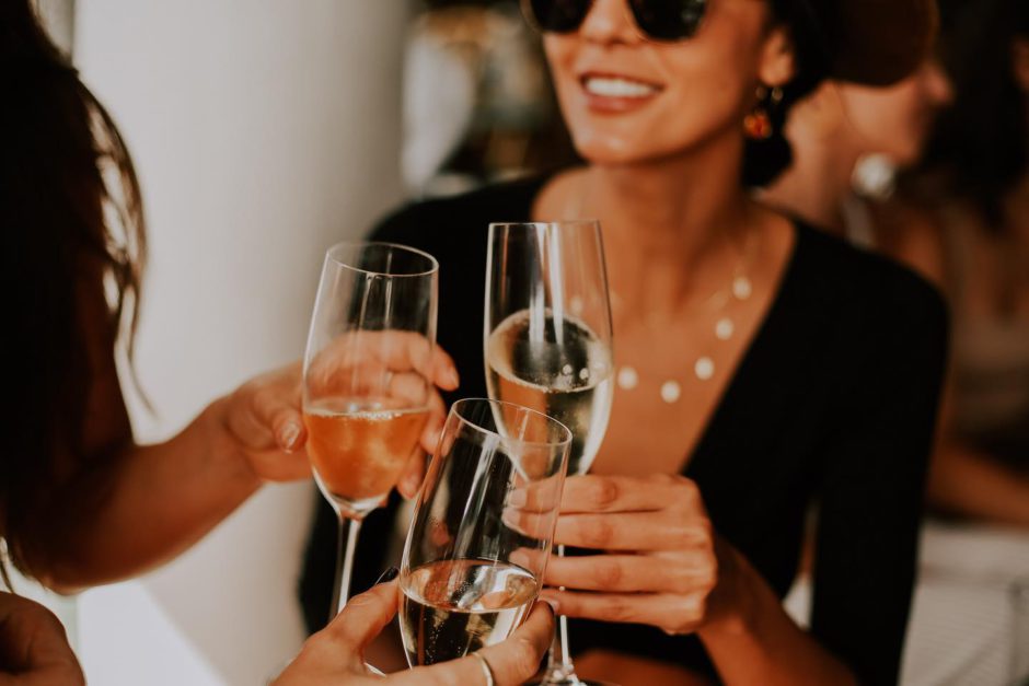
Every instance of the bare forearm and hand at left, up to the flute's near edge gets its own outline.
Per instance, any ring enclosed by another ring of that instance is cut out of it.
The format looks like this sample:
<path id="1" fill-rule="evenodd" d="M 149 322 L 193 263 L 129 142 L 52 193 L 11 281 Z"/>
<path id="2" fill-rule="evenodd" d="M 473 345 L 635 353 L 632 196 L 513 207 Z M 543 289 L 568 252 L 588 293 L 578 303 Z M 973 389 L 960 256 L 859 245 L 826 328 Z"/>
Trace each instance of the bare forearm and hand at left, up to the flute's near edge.
<path id="1" fill-rule="evenodd" d="M 298 387 L 292 365 L 215 402 L 164 443 L 129 438 L 66 455 L 67 476 L 35 503 L 30 571 L 62 592 L 138 574 L 192 546 L 264 480 L 307 476 L 303 450 L 287 452 L 303 442 Z M 118 400 L 106 411 L 123 412 Z"/>

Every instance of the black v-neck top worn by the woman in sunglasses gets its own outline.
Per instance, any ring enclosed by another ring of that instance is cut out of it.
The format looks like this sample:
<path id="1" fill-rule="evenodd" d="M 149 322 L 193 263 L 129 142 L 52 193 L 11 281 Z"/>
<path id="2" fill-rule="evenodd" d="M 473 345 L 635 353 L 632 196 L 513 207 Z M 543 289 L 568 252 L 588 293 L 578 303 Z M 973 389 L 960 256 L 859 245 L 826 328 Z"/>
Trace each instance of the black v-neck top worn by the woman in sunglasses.
<path id="1" fill-rule="evenodd" d="M 439 259 L 439 344 L 461 374 L 448 400 L 486 395 L 487 225 L 529 221 L 545 181 L 414 204 L 374 231 L 375 240 Z M 797 573 L 807 513 L 817 509 L 811 632 L 863 684 L 892 684 L 914 579 L 946 310 L 906 269 L 799 222 L 796 231 L 779 291 L 685 475 L 700 487 L 715 528 L 779 596 Z M 647 432 L 660 429 L 639 427 L 640 450 Z M 382 511 L 366 522 L 355 589 L 395 563 L 383 559 L 390 518 Z M 301 581 L 312 630 L 324 625 L 329 604 L 334 530 L 322 503 Z M 605 648 L 716 677 L 693 636 L 573 621 L 571 641 L 576 652 Z"/>

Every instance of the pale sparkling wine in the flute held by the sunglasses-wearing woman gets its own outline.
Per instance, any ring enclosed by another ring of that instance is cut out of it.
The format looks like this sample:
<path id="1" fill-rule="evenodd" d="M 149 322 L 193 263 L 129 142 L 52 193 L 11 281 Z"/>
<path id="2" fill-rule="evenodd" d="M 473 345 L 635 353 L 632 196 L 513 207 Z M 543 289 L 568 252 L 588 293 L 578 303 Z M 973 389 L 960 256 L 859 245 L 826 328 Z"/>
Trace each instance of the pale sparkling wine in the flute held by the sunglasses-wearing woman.
<path id="1" fill-rule="evenodd" d="M 486 344 L 489 397 L 550 415 L 571 430 L 568 474 L 590 468 L 608 429 L 611 349 L 581 322 L 529 311 L 500 323 Z"/>

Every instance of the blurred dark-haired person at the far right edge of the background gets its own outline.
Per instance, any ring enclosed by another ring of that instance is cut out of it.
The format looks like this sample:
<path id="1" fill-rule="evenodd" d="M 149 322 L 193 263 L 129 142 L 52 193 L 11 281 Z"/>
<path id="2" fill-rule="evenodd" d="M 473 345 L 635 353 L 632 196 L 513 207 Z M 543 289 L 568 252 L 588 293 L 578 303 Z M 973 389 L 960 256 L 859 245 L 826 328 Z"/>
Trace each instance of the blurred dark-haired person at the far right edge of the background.
<path id="1" fill-rule="evenodd" d="M 1009 665 L 1029 574 L 1029 3 L 941 9 L 955 103 L 877 212 L 953 322 L 904 683 L 1002 686 L 1027 676 Z"/>

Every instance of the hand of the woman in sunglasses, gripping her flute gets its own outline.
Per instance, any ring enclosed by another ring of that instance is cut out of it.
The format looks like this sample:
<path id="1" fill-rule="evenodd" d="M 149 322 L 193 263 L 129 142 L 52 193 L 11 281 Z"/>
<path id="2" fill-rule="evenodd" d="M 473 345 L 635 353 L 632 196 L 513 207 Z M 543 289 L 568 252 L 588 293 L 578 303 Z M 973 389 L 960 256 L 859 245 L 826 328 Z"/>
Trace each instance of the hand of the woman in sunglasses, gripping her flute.
<path id="1" fill-rule="evenodd" d="M 554 542 L 604 551 L 551 558 L 546 584 L 567 590 L 543 596 L 563 615 L 689 633 L 729 614 L 719 589 L 731 583 L 736 554 L 685 477 L 570 477 Z"/>

